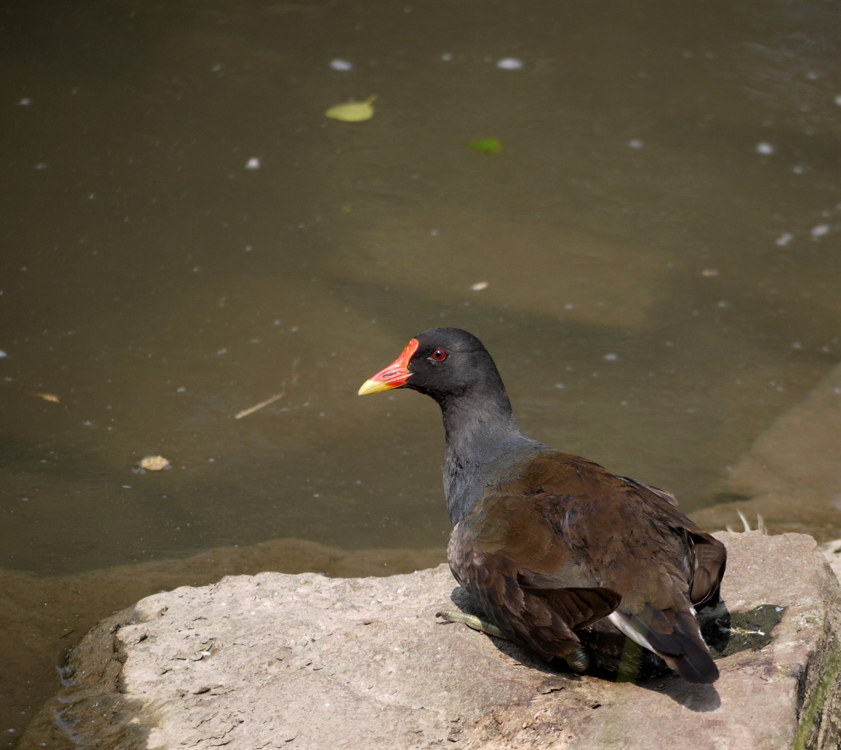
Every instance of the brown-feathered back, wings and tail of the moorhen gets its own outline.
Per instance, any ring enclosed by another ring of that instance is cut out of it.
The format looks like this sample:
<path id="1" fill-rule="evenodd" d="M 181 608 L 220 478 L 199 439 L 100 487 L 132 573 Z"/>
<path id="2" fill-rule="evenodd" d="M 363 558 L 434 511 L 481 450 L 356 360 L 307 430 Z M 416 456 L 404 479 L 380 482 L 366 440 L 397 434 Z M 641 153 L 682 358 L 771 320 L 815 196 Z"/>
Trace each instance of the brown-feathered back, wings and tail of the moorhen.
<path id="1" fill-rule="evenodd" d="M 726 551 L 669 501 L 586 459 L 545 451 L 489 487 L 453 530 L 453 574 L 512 640 L 544 657 L 611 616 L 693 682 L 717 669 L 693 605 L 712 606 Z M 662 494 L 661 494 L 662 493 Z"/>

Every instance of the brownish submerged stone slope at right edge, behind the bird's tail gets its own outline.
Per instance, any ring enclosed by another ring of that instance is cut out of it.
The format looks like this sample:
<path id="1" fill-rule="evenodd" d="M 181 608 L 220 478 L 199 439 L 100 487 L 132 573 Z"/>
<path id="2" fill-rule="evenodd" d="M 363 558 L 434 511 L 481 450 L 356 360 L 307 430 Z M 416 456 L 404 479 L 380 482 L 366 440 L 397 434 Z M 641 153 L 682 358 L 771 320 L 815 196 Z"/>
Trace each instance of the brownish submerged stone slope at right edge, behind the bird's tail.
<path id="1" fill-rule="evenodd" d="M 822 541 L 841 528 L 841 365 L 782 414 L 733 467 L 719 493 L 733 501 L 692 514 L 704 528 L 741 527 L 762 516 L 771 532 L 808 531 Z"/>

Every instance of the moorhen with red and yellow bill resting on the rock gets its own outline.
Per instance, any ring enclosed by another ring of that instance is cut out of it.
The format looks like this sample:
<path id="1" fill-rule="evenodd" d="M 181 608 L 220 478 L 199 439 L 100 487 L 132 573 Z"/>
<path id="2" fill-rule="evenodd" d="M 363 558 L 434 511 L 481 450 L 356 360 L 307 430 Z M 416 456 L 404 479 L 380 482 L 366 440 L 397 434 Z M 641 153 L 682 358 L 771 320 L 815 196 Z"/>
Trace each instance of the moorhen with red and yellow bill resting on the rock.
<path id="1" fill-rule="evenodd" d="M 717 605 L 727 551 L 673 496 L 526 438 L 494 360 L 466 331 L 412 338 L 359 395 L 392 388 L 441 406 L 447 559 L 505 637 L 584 671 L 582 636 L 600 627 L 690 682 L 718 678 L 695 615 Z"/>

